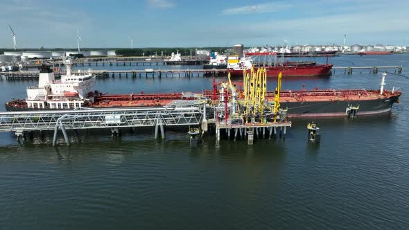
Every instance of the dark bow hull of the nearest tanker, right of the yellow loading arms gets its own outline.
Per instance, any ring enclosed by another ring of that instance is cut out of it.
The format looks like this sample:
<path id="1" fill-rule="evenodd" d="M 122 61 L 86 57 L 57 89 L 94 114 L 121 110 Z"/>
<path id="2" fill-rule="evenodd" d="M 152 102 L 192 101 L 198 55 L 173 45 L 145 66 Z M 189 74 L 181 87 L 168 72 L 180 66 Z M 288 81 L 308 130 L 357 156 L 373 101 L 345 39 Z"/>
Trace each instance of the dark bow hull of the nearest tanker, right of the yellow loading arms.
<path id="1" fill-rule="evenodd" d="M 383 114 L 390 112 L 399 96 L 379 98 L 375 100 L 339 100 L 339 101 L 307 101 L 280 102 L 282 109 L 288 109 L 289 117 L 323 117 L 347 116 L 348 107 L 359 107 L 358 116 Z"/>

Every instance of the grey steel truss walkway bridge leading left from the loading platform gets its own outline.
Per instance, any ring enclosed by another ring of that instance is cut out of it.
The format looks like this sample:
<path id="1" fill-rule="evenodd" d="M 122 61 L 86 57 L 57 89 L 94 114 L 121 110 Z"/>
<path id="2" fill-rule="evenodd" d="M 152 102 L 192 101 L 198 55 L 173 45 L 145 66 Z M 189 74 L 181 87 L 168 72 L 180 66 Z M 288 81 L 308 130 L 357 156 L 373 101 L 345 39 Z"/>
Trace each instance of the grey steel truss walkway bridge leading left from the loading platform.
<path id="1" fill-rule="evenodd" d="M 202 106 L 139 107 L 116 109 L 49 110 L 31 112 L 0 112 L 0 132 L 15 132 L 17 141 L 25 132 L 54 130 L 53 145 L 58 129 L 69 145 L 66 130 L 110 128 L 117 134 L 121 127 L 155 127 L 155 139 L 164 126 L 199 125 Z"/>

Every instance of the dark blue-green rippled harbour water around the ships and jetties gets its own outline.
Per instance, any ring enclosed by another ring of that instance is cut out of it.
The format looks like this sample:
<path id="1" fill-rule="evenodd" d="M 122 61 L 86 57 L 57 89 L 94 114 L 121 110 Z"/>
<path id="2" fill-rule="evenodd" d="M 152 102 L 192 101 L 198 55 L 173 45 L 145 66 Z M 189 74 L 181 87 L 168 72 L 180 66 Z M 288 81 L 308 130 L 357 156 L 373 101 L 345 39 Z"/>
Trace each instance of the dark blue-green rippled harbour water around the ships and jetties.
<path id="1" fill-rule="evenodd" d="M 166 130 L 165 140 L 155 140 L 154 129 L 137 129 L 114 139 L 109 130 L 80 132 L 70 135 L 71 146 L 54 148 L 51 133 L 22 145 L 14 134 L 0 133 L 0 229 L 407 229 L 409 55 L 329 62 L 402 65 L 401 74 L 389 70 L 385 86 L 403 91 L 401 103 L 381 116 L 293 119 L 286 139 L 255 139 L 254 145 L 222 133 L 219 143 L 208 135 L 190 148 L 187 130 Z M 379 89 L 381 73 L 337 69 L 329 78 L 284 78 L 282 87 Z M 211 81 L 104 78 L 96 89 L 197 92 L 211 89 Z M 276 81 L 270 78 L 268 88 Z M 35 84 L 3 78 L 1 110 Z M 321 129 L 319 144 L 308 142 L 311 121 Z"/>

